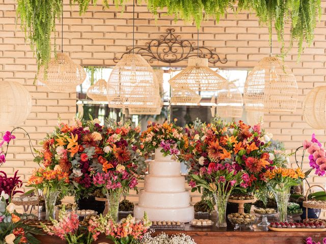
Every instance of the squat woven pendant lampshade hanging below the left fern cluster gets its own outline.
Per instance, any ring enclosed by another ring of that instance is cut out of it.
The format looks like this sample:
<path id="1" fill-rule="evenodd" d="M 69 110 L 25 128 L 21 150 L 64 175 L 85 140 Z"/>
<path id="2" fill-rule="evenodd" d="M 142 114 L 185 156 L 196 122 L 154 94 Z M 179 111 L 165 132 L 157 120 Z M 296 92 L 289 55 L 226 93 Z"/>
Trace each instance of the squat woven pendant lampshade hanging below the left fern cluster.
<path id="1" fill-rule="evenodd" d="M 44 67 L 40 68 L 38 74 L 38 80 L 55 93 L 76 92 L 76 86 L 82 84 L 85 79 L 84 68 L 73 63 L 65 53 L 57 53 L 57 57 L 50 60 L 46 76 Z"/>

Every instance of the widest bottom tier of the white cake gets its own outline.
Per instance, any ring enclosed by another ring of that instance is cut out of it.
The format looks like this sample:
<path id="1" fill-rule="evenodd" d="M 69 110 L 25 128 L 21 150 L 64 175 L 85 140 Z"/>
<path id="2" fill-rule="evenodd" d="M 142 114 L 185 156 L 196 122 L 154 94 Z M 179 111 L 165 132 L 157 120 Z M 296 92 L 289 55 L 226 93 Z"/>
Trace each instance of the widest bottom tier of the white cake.
<path id="1" fill-rule="evenodd" d="M 151 221 L 180 221 L 188 223 L 194 219 L 194 206 L 176 208 L 158 208 L 135 205 L 133 216 L 142 219 L 146 212 Z"/>

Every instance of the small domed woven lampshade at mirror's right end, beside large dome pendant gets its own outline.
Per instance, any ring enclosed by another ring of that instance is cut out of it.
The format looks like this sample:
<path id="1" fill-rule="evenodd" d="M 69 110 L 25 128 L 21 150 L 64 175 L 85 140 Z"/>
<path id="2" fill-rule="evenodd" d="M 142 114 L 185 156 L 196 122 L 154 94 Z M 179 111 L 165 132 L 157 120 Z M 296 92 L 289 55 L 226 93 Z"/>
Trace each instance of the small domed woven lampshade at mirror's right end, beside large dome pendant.
<path id="1" fill-rule="evenodd" d="M 226 81 L 218 90 L 216 113 L 223 118 L 240 118 L 243 112 L 243 99 L 233 81 Z"/>

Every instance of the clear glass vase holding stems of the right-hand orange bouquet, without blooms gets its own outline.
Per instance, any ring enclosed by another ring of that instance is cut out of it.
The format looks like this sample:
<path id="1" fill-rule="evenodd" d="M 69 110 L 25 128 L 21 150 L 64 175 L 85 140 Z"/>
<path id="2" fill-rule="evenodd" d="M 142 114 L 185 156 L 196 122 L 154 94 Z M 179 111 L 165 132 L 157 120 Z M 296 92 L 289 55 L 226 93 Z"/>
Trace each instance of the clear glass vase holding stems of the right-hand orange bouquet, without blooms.
<path id="1" fill-rule="evenodd" d="M 290 199 L 290 188 L 276 187 L 272 190 L 277 203 L 277 210 L 279 213 L 279 222 L 287 221 L 287 205 Z"/>

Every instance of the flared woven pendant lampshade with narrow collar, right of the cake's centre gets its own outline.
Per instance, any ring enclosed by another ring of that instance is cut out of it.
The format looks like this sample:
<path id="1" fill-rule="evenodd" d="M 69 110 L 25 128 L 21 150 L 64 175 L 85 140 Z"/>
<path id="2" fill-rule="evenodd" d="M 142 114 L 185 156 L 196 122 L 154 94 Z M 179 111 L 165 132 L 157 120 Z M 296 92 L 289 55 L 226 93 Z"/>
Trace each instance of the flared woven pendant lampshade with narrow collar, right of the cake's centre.
<path id="1" fill-rule="evenodd" d="M 219 90 L 226 79 L 208 67 L 207 58 L 188 59 L 188 66 L 169 80 L 174 89 Z"/>

